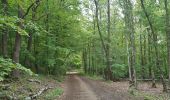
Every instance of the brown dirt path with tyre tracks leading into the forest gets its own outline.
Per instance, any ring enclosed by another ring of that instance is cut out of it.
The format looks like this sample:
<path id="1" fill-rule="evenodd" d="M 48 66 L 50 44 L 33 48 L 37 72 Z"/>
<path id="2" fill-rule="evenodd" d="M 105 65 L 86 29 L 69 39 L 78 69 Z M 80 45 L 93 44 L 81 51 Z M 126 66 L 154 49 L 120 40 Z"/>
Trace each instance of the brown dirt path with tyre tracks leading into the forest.
<path id="1" fill-rule="evenodd" d="M 78 75 L 68 75 L 60 100 L 142 100 L 132 99 L 127 93 L 118 93 L 113 88 Z"/>

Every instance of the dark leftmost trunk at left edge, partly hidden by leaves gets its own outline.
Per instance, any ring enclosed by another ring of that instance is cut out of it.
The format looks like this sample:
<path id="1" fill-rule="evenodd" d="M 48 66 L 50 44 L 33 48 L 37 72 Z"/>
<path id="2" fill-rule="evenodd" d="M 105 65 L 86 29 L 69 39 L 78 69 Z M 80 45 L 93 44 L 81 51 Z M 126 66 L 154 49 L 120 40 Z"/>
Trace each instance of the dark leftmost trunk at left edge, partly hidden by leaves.
<path id="1" fill-rule="evenodd" d="M 3 15 L 8 15 L 8 1 L 7 0 L 1 0 L 3 5 Z M 8 57 L 8 30 L 3 29 L 2 34 L 2 54 L 4 58 Z"/>

